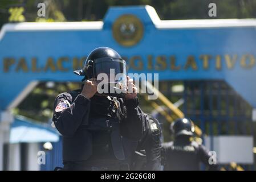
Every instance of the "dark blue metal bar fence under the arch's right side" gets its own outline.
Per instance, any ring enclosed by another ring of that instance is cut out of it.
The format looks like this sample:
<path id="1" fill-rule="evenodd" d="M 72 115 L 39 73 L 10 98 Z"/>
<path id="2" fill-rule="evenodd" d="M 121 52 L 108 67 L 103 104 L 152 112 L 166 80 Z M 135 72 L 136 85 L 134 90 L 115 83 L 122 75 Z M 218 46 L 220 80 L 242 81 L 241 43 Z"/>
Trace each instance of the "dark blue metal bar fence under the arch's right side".
<path id="1" fill-rule="evenodd" d="M 173 89 L 177 85 L 182 85 L 182 92 Z M 252 121 L 252 107 L 225 81 L 164 81 L 160 82 L 159 89 L 173 103 L 182 100 L 179 108 L 204 134 L 250 135 L 254 137 L 255 146 L 256 123 Z M 212 149 L 213 140 L 210 143 L 209 149 Z M 254 165 L 241 164 L 248 170 L 254 169 Z"/>

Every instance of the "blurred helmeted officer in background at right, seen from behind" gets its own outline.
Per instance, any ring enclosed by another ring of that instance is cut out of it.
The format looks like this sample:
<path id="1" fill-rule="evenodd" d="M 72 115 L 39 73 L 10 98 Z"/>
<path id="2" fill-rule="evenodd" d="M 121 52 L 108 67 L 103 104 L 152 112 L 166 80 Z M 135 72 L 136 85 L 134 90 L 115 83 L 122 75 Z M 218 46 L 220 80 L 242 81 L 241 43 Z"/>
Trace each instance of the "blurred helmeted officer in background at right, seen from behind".
<path id="1" fill-rule="evenodd" d="M 174 141 L 162 144 L 164 150 L 164 170 L 200 170 L 200 163 L 204 163 L 209 170 L 217 170 L 218 165 L 209 163 L 211 155 L 202 144 L 191 141 L 194 126 L 189 118 L 177 119 L 170 125 L 174 134 Z"/>

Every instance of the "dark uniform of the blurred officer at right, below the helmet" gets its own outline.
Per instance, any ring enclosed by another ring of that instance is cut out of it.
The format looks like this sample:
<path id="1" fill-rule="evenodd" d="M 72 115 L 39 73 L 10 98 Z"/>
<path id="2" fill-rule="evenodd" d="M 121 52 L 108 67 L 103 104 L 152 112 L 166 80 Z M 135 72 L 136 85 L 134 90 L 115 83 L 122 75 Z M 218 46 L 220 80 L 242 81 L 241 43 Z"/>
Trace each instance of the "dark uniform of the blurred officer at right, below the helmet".
<path id="1" fill-rule="evenodd" d="M 216 164 L 209 164 L 208 150 L 201 144 L 190 142 L 188 137 L 180 136 L 174 142 L 162 144 L 164 149 L 164 170 L 198 171 L 200 162 L 209 167 L 209 170 L 217 170 Z"/>

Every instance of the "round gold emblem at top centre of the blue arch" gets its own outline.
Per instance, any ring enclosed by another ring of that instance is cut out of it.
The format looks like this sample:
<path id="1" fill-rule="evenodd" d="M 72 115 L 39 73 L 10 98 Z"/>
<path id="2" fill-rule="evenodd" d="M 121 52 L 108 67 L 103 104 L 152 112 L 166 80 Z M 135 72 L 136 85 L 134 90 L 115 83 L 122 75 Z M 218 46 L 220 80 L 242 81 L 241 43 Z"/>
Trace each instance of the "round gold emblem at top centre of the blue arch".
<path id="1" fill-rule="evenodd" d="M 143 23 L 132 14 L 119 16 L 113 23 L 113 38 L 121 46 L 129 47 L 139 43 L 143 38 Z"/>

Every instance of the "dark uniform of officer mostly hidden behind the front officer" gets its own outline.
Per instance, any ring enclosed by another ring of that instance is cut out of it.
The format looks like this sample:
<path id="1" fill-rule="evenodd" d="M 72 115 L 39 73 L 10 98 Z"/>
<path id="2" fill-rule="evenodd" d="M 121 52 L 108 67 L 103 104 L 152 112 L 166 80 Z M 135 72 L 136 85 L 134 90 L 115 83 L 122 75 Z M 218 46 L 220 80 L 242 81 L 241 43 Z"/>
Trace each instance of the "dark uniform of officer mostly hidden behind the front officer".
<path id="1" fill-rule="evenodd" d="M 132 156 L 132 170 L 161 169 L 161 127 L 159 121 L 147 114 L 147 130 Z"/>

